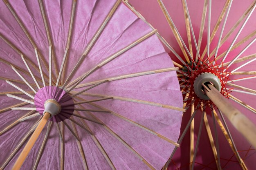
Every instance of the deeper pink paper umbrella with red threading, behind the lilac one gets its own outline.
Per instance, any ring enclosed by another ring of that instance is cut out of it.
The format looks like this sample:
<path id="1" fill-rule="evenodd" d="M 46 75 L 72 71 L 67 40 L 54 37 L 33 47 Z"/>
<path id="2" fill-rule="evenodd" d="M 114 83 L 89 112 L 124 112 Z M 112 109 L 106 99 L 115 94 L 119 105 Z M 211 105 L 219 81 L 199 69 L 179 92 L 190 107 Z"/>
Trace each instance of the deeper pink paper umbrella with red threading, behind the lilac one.
<path id="1" fill-rule="evenodd" d="M 127 2 L 138 16 L 143 15 L 166 38 L 159 36 L 180 67 L 187 112 L 178 141 L 181 147 L 164 169 L 168 165 L 170 170 L 255 169 L 256 1 L 129 2 L 141 12 Z M 211 91 L 205 91 L 202 84 Z M 232 105 L 223 106 L 225 101 Z"/>

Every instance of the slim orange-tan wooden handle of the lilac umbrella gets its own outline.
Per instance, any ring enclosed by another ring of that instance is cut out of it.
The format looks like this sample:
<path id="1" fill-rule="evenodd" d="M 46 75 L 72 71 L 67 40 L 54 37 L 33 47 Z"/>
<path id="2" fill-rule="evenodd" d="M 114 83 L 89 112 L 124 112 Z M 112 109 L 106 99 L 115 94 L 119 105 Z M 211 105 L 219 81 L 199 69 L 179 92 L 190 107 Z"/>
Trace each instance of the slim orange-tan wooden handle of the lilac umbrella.
<path id="1" fill-rule="evenodd" d="M 19 170 L 20 167 L 22 166 L 23 162 L 27 158 L 27 155 L 29 154 L 30 150 L 34 146 L 36 139 L 42 132 L 43 128 L 45 127 L 45 124 L 47 120 L 51 117 L 50 113 L 46 112 L 45 115 L 43 116 L 43 119 L 39 122 L 38 126 L 36 127 L 36 130 L 33 132 L 31 135 L 29 141 L 27 142 L 26 146 L 20 153 L 20 156 L 18 157 L 17 161 L 15 162 L 12 170 Z"/>

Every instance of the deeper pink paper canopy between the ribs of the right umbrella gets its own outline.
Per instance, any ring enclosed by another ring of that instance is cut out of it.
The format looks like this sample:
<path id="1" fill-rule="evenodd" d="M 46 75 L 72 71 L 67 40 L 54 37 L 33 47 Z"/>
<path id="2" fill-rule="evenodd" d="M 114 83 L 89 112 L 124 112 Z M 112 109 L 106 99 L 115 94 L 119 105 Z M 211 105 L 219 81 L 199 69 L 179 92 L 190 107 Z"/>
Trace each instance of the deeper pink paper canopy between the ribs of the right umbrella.
<path id="1" fill-rule="evenodd" d="M 160 0 L 129 0 L 129 3 L 137 10 L 144 18 L 152 24 L 155 29 L 157 29 L 166 41 L 170 44 L 170 46 L 177 52 L 178 55 L 182 57 L 185 61 L 184 53 L 182 53 L 182 48 L 180 48 L 173 31 L 171 30 L 168 22 L 166 21 L 166 17 L 163 14 L 162 9 L 159 6 Z M 171 16 L 173 23 L 175 24 L 178 32 L 180 33 L 182 39 L 184 40 L 186 47 L 193 54 L 195 59 L 197 50 L 193 40 L 193 34 L 191 30 L 191 26 L 189 25 L 189 19 L 187 15 L 184 15 L 184 11 L 186 11 L 186 6 L 184 4 L 184 0 L 162 0 L 167 12 Z M 200 32 L 202 32 L 201 45 L 198 46 L 200 51 L 200 56 L 204 53 L 204 59 L 206 59 L 207 55 L 207 32 L 208 32 L 208 15 L 209 15 L 209 0 L 186 0 L 186 4 L 189 10 L 189 15 L 191 19 L 191 23 L 193 26 L 193 32 L 195 34 L 196 44 L 198 45 L 200 42 Z M 209 46 L 210 57 L 213 59 L 215 55 L 216 47 L 218 45 L 218 41 L 222 32 L 222 27 L 225 21 L 225 17 L 227 14 L 227 10 L 229 4 L 231 4 L 229 14 L 227 16 L 227 22 L 225 23 L 225 27 L 222 33 L 221 45 L 218 49 L 217 58 L 219 57 L 217 64 L 221 63 L 221 59 L 226 55 L 227 50 L 233 43 L 236 35 L 238 35 L 240 28 L 245 23 L 247 17 L 250 12 L 255 9 L 254 0 L 247 1 L 239 1 L 239 0 L 212 0 L 211 1 L 211 20 L 210 20 L 210 37 L 215 34 Z M 205 9 L 205 14 L 204 14 Z M 224 12 L 223 12 L 224 11 Z M 203 15 L 204 14 L 204 15 Z M 205 21 L 203 18 L 205 17 Z M 220 17 L 222 19 L 220 20 Z M 244 115 L 246 115 L 251 121 L 256 124 L 256 110 L 255 108 L 255 36 L 256 36 L 256 11 L 252 11 L 247 23 L 245 24 L 243 30 L 238 35 L 236 41 L 234 42 L 233 47 L 230 49 L 225 61 L 224 66 L 227 66 L 231 60 L 237 57 L 241 52 L 241 55 L 238 57 L 238 60 L 234 62 L 228 69 L 228 72 L 234 71 L 234 69 L 239 68 L 239 66 L 243 67 L 231 73 L 229 76 L 229 80 L 233 80 L 233 82 L 227 82 L 225 86 L 229 91 L 231 103 L 234 104 Z M 203 20 L 203 22 L 202 22 Z M 221 21 L 221 22 L 219 22 Z M 203 23 L 203 24 L 202 24 Z M 187 26 L 189 25 L 189 26 Z M 201 26 L 202 25 L 202 26 Z M 190 34 L 187 34 L 187 27 L 190 28 Z M 202 30 L 202 31 L 200 31 Z M 190 45 L 191 44 L 191 47 Z M 248 46 L 249 45 L 249 46 Z M 248 47 L 248 48 L 247 48 Z M 177 55 L 172 53 L 170 49 L 165 46 L 166 51 L 170 53 L 171 59 L 178 64 L 182 64 L 180 60 L 177 59 Z M 183 48 L 184 49 L 184 48 Z M 184 49 L 185 53 L 186 50 Z M 188 55 L 188 53 L 187 53 Z M 188 55 L 189 57 L 189 55 Z M 190 58 L 189 58 L 190 59 Z M 240 60 L 239 60 L 240 59 Z M 191 60 L 191 59 L 190 59 Z M 227 64 L 228 63 L 228 64 Z M 182 64 L 183 65 L 183 64 Z M 251 79 L 248 79 L 251 77 Z M 245 78 L 245 79 L 243 79 Z M 235 81 L 234 81 L 235 80 Z M 231 97 L 234 96 L 235 98 Z M 184 96 L 185 97 L 185 96 Z M 240 102 L 238 102 L 240 100 Z M 241 104 L 242 103 L 242 104 Z M 247 104 L 247 105 L 245 105 Z M 250 107 L 252 106 L 252 107 Z M 248 109 L 249 108 L 249 109 Z M 193 111 L 192 111 L 193 112 Z M 236 157 L 236 153 L 234 152 L 234 148 L 231 148 L 229 143 L 231 143 L 231 139 L 229 138 L 228 132 L 223 133 L 223 129 L 225 130 L 225 123 L 222 121 L 220 117 L 220 113 L 218 112 L 218 117 L 220 118 L 220 123 L 223 126 L 219 126 L 219 121 L 216 121 L 218 139 L 216 139 L 213 117 L 210 110 L 207 110 L 207 117 L 209 122 L 209 127 L 211 131 L 211 135 L 209 135 L 209 131 L 207 131 L 205 123 L 202 126 L 202 133 L 200 136 L 200 143 L 197 150 L 197 155 L 195 158 L 194 169 L 195 170 L 217 170 L 217 169 L 225 169 L 225 170 L 242 170 L 243 163 L 239 161 Z M 201 120 L 202 112 L 199 110 L 195 115 L 194 119 L 194 139 L 191 138 L 190 129 L 187 131 L 181 147 L 175 152 L 173 159 L 171 160 L 170 166 L 168 169 L 170 170 L 188 170 L 191 168 L 191 164 L 193 159 L 191 159 L 191 145 L 196 146 L 196 141 L 198 139 L 198 132 L 200 131 L 200 120 Z M 189 119 L 191 117 L 191 108 L 187 109 L 186 113 L 184 113 L 182 117 L 182 126 L 181 132 L 184 131 Z M 225 117 L 226 118 L 226 117 Z M 205 122 L 203 120 L 203 122 Z M 255 148 L 253 148 L 246 139 L 240 135 L 240 133 L 234 128 L 234 126 L 226 119 L 227 127 L 229 128 L 231 137 L 234 140 L 234 144 L 238 150 L 240 158 L 245 163 L 248 170 L 255 169 Z M 221 127 L 221 128 L 220 128 Z M 181 133 L 182 135 L 182 133 Z M 180 135 L 180 137 L 181 137 Z M 220 150 L 220 167 L 217 167 L 216 160 L 217 157 L 214 157 L 213 149 L 211 143 L 209 141 L 209 136 L 213 137 L 215 141 L 215 147 L 217 146 L 216 141 L 219 144 Z M 227 139 L 229 139 L 227 141 Z M 191 142 L 193 141 L 193 142 Z M 193 155 L 193 152 L 192 152 Z"/>

